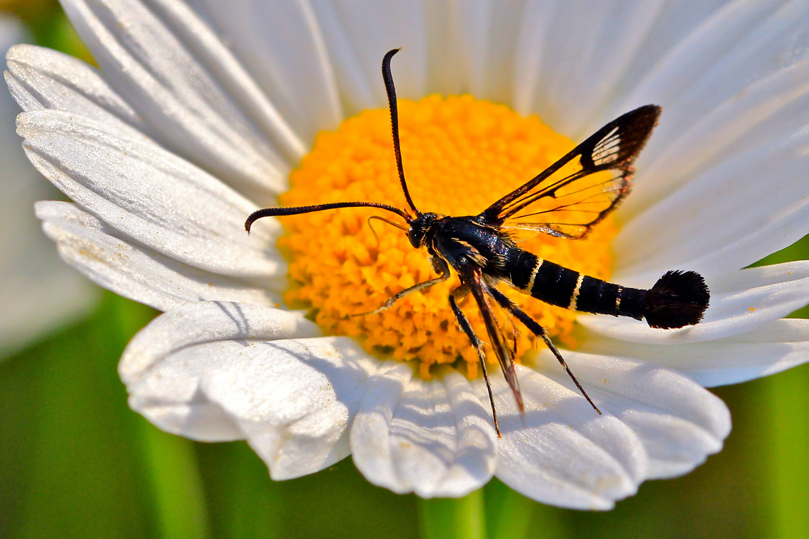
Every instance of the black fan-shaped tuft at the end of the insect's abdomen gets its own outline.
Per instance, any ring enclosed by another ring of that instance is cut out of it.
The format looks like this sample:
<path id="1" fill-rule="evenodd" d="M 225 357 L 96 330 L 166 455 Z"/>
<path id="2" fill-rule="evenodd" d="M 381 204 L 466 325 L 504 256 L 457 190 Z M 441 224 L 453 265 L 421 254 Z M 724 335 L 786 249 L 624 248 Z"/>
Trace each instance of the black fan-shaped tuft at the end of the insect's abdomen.
<path id="1" fill-rule="evenodd" d="M 693 326 L 708 308 L 710 293 L 705 279 L 697 272 L 671 270 L 646 291 L 646 322 L 670 330 Z"/>

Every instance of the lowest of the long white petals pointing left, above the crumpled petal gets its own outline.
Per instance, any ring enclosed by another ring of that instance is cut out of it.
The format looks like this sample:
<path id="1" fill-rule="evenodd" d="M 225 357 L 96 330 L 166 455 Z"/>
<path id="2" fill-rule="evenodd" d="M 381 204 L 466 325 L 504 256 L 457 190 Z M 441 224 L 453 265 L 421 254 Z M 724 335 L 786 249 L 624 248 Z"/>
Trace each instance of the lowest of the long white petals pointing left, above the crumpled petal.
<path id="1" fill-rule="evenodd" d="M 142 246 L 131 245 L 75 204 L 41 201 L 36 217 L 57 243 L 67 263 L 112 292 L 158 310 L 186 301 L 242 301 L 277 305 L 280 297 L 265 288 L 187 266 Z M 284 279 L 286 281 L 286 279 Z M 277 289 L 283 284 L 279 280 Z"/>

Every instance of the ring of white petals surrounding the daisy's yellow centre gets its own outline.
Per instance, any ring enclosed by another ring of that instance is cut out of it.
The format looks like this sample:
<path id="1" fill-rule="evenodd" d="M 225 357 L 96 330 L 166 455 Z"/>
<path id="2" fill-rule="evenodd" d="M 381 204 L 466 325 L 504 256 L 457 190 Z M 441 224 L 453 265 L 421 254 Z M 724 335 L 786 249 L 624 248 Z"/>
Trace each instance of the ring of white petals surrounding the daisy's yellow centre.
<path id="1" fill-rule="evenodd" d="M 74 200 L 37 204 L 46 234 L 91 280 L 166 311 L 121 361 L 130 405 L 159 427 L 246 438 L 276 479 L 350 453 L 396 492 L 460 496 L 497 475 L 607 509 L 722 447 L 730 417 L 701 385 L 807 360 L 809 325 L 782 317 L 809 303 L 809 263 L 740 268 L 809 233 L 809 2 L 201 3 L 63 2 L 100 71 L 44 48 L 7 56 L 28 157 Z M 282 229 L 248 238 L 244 218 L 286 191 L 318 131 L 384 107 L 395 46 L 400 97 L 468 91 L 575 141 L 663 106 L 612 281 L 694 270 L 711 305 L 676 331 L 578 317 L 565 357 L 604 415 L 540 354 L 519 368 L 525 426 L 495 377 L 498 440 L 480 380 L 426 381 L 275 308 Z"/>

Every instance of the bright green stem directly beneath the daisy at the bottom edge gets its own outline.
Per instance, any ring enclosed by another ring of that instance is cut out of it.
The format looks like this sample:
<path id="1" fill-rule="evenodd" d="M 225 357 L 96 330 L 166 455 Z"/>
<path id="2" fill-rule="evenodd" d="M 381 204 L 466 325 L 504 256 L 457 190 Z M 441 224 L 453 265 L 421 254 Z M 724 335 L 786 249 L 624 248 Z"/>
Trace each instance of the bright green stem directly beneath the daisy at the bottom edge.
<path id="1" fill-rule="evenodd" d="M 485 539 L 483 490 L 464 498 L 419 500 L 422 539 Z"/>

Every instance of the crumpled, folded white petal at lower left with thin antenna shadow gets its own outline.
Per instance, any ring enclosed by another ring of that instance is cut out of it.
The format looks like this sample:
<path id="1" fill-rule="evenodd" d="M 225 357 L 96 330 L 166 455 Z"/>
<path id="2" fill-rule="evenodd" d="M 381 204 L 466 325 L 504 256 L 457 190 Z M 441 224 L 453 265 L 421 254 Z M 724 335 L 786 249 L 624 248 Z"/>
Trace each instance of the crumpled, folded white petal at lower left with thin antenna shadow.
<path id="1" fill-rule="evenodd" d="M 349 453 L 348 428 L 379 362 L 352 339 L 322 337 L 303 314 L 226 302 L 184 305 L 129 343 L 129 404 L 197 440 L 247 437 L 275 479 Z"/>

